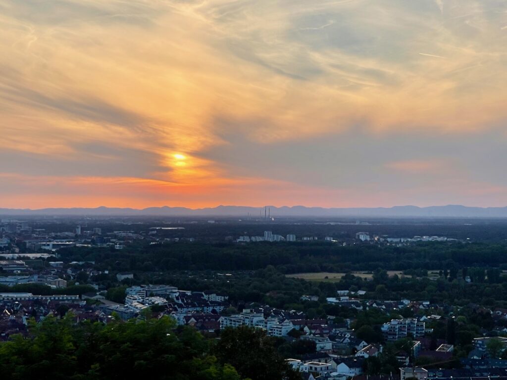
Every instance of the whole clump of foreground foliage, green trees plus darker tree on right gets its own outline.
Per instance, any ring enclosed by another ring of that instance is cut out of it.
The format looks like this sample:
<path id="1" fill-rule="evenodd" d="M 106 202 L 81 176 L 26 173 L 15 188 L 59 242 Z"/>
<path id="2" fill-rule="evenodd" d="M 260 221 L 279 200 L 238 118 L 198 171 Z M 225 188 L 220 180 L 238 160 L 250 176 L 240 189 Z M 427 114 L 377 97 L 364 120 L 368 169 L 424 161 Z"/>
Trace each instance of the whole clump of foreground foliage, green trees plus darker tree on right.
<path id="1" fill-rule="evenodd" d="M 169 317 L 105 325 L 67 315 L 32 321 L 30 334 L 0 345 L 0 378 L 300 380 L 275 339 L 247 327 L 226 329 L 216 341 Z"/>

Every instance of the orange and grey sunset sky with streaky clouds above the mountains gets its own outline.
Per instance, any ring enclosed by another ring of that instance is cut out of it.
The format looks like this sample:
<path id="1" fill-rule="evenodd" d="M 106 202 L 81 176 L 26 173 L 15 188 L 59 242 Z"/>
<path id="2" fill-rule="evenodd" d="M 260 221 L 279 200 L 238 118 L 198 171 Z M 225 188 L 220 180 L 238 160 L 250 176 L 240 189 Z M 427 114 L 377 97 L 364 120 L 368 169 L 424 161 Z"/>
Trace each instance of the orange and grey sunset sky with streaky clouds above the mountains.
<path id="1" fill-rule="evenodd" d="M 507 206 L 504 0 L 0 0 L 0 207 Z"/>

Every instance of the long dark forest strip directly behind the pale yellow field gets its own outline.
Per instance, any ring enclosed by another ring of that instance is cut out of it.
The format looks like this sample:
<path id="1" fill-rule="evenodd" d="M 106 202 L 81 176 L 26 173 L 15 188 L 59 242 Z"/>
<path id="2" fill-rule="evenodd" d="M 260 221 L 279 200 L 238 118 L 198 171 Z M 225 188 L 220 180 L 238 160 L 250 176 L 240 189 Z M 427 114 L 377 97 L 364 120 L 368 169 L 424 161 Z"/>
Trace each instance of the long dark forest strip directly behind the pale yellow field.
<path id="1" fill-rule="evenodd" d="M 61 249 L 69 261 L 93 260 L 99 268 L 120 271 L 244 271 L 273 265 L 281 273 L 386 270 L 451 270 L 462 267 L 507 269 L 506 244 L 418 243 L 393 245 L 333 243 L 137 243 L 121 251 L 106 248 Z M 502 265 L 503 264 L 503 265 Z"/>

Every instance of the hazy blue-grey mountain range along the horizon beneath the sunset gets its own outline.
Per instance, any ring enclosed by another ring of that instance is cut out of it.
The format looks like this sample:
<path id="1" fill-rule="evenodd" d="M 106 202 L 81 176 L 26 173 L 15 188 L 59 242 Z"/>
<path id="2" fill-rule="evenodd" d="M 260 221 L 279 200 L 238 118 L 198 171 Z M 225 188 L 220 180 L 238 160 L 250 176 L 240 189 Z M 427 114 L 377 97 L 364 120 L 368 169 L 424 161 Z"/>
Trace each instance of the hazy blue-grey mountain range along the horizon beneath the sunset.
<path id="1" fill-rule="evenodd" d="M 447 217 L 447 218 L 507 218 L 507 207 L 448 206 L 395 206 L 377 208 L 322 208 L 322 207 L 274 207 L 267 206 L 272 217 Z M 45 208 L 7 209 L 0 208 L 0 215 L 10 216 L 204 216 L 204 217 L 264 217 L 264 207 L 218 206 L 213 208 L 190 209 L 185 207 L 133 208 Z"/>

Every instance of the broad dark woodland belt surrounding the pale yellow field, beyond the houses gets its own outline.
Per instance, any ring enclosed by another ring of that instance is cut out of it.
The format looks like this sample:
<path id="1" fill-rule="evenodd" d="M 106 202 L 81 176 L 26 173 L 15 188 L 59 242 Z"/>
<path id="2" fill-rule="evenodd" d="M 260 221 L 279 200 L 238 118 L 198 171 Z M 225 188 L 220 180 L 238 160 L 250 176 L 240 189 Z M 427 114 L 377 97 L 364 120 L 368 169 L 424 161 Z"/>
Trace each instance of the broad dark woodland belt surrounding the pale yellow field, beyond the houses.
<path id="1" fill-rule="evenodd" d="M 337 290 L 365 290 L 379 299 L 429 300 L 464 306 L 507 302 L 507 246 L 488 243 L 419 243 L 403 247 L 358 244 L 163 244 L 133 245 L 121 251 L 104 248 L 60 250 L 67 261 L 94 261 L 108 270 L 92 280 L 117 287 L 114 273 L 131 271 L 124 285 L 166 283 L 188 290 L 215 290 L 234 302 L 265 302 L 284 307 L 303 294 L 325 297 Z M 90 264 L 92 265 L 92 264 Z M 388 276 L 387 270 L 403 275 Z M 371 280 L 353 271 L 369 271 Z M 218 274 L 231 272 L 225 278 Z M 308 282 L 284 275 L 300 272 L 346 273 L 339 282 Z M 432 278 L 428 276 L 432 272 Z M 436 276 L 436 277 L 435 277 Z M 469 278 L 469 283 L 465 281 Z M 86 281 L 84 281 L 86 282 Z M 84 283 L 81 282 L 81 283 Z M 115 293 L 113 289 L 111 295 Z M 118 293 L 118 292 L 117 292 Z M 117 299 L 121 299 L 121 292 Z"/>

